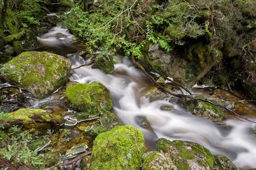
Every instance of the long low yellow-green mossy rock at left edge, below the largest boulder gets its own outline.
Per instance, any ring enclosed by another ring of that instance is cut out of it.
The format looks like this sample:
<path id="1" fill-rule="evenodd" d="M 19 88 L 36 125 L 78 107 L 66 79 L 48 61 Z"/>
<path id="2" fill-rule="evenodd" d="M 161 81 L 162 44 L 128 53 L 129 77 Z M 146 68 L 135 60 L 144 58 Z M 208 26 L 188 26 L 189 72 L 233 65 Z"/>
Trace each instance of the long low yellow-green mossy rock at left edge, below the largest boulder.
<path id="1" fill-rule="evenodd" d="M 10 125 L 35 124 L 35 123 L 54 123 L 61 124 L 64 122 L 62 116 L 47 113 L 42 109 L 19 109 L 15 112 L 8 113 L 9 119 L 0 119 L 0 122 L 7 122 Z"/>

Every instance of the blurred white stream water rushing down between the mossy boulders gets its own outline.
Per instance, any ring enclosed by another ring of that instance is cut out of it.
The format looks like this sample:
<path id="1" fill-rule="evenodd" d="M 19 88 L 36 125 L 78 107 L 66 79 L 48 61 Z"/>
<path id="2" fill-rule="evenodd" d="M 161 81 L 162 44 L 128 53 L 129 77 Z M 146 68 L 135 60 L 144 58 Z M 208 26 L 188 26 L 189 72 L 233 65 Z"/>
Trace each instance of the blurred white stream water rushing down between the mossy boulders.
<path id="1" fill-rule="evenodd" d="M 67 38 L 54 38 L 58 32 L 65 34 Z M 73 35 L 67 29 L 58 27 L 38 37 L 45 46 L 43 50 L 64 56 L 78 51 L 78 48 L 70 42 L 72 39 Z M 73 49 L 73 51 L 70 52 L 67 49 Z M 73 68 L 90 62 L 84 61 L 78 53 L 68 57 Z M 212 154 L 224 154 L 241 170 L 256 167 L 256 136 L 252 135 L 253 130 L 256 130 L 256 124 L 241 122 L 229 115 L 225 115 L 224 121 L 213 123 L 192 115 L 168 100 L 149 102 L 143 93 L 152 86 L 151 82 L 142 71 L 134 67 L 129 59 L 117 57 L 119 62 L 114 65 L 114 74 L 105 74 L 99 69 L 85 66 L 74 70 L 70 80 L 80 83 L 101 82 L 105 85 L 110 90 L 113 100 L 111 111 L 115 113 L 122 125 L 133 125 L 142 130 L 148 150 L 155 150 L 157 139 L 162 137 L 169 140 L 188 140 L 203 145 Z M 193 88 L 192 92 L 204 94 L 208 98 L 217 97 L 217 95 L 207 96 L 204 90 L 198 88 Z M 232 96 L 226 91 L 219 93 Z M 160 110 L 160 106 L 163 105 L 170 105 L 175 108 L 175 111 Z M 252 102 L 238 103 L 236 109 L 241 111 L 239 113 L 243 116 L 256 121 L 256 106 Z M 153 131 L 137 125 L 136 116 L 145 116 Z"/>

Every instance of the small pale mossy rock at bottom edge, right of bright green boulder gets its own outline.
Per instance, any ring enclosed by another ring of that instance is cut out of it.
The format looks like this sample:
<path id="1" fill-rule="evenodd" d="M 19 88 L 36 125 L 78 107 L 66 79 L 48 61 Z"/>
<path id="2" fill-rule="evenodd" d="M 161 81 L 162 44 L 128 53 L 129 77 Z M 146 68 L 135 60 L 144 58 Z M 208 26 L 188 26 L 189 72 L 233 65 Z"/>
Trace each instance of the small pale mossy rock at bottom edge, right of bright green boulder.
<path id="1" fill-rule="evenodd" d="M 172 170 L 173 167 L 163 153 L 152 151 L 143 156 L 142 170 Z"/>

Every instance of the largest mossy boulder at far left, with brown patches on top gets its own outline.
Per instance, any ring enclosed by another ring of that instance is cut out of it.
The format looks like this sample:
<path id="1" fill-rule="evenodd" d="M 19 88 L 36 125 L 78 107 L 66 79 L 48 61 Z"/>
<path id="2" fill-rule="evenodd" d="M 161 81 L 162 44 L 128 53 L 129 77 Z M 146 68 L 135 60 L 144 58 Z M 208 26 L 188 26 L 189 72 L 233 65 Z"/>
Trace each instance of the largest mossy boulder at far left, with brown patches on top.
<path id="1" fill-rule="evenodd" d="M 43 99 L 67 81 L 71 63 L 68 59 L 49 52 L 23 52 L 4 66 L 6 80 Z"/>

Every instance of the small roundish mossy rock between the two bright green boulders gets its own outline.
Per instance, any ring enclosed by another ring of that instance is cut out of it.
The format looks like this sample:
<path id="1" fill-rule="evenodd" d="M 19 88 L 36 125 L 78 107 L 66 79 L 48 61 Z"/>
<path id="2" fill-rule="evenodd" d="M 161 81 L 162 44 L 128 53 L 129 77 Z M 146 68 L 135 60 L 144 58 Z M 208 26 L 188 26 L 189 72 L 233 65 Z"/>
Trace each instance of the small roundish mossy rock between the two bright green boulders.
<path id="1" fill-rule="evenodd" d="M 106 111 L 99 118 L 100 124 L 106 128 L 106 130 L 111 130 L 116 126 L 120 126 L 119 120 L 110 111 Z"/>

